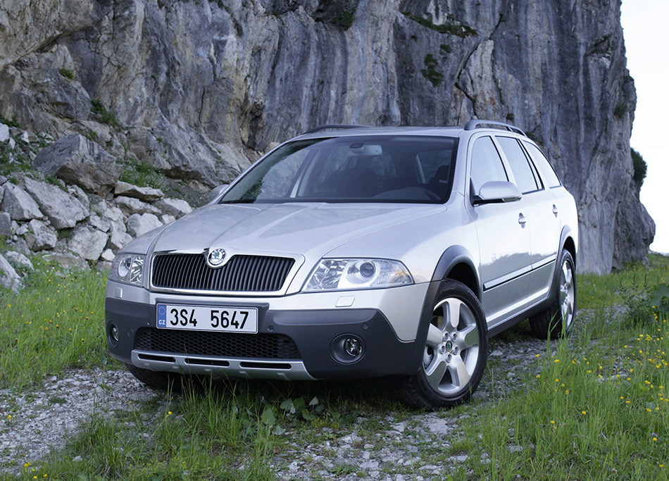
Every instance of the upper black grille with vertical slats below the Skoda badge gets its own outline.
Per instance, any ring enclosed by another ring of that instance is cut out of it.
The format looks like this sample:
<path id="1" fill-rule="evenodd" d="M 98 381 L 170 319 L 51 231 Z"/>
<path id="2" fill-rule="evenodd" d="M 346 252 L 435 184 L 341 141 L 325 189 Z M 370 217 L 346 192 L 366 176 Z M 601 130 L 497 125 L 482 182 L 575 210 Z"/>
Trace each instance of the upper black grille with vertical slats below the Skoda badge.
<path id="1" fill-rule="evenodd" d="M 225 266 L 207 266 L 205 254 L 159 254 L 151 284 L 160 289 L 222 292 L 278 291 L 295 263 L 288 257 L 232 256 Z"/>

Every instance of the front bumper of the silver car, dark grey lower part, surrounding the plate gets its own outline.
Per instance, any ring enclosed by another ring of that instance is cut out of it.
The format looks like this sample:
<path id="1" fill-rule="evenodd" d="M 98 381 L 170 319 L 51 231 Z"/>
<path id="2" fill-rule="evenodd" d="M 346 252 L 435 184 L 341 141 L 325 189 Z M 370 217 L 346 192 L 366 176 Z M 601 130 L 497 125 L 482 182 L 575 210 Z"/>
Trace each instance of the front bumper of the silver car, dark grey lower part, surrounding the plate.
<path id="1" fill-rule="evenodd" d="M 273 299 L 222 301 L 206 296 L 165 299 L 164 295 L 154 298 L 154 294 L 146 291 L 153 299 L 137 302 L 110 296 L 113 292 L 118 291 L 108 285 L 105 306 L 108 349 L 115 358 L 139 368 L 285 380 L 378 377 L 415 370 L 412 366 L 415 342 L 399 339 L 387 316 L 377 308 L 335 308 L 332 304 L 332 308 L 291 310 L 274 308 Z M 423 295 L 420 290 L 414 292 Z M 258 334 L 158 329 L 156 302 L 163 301 L 254 306 L 258 308 Z M 416 315 L 406 321 L 413 324 L 414 332 L 423 299 L 418 297 L 415 301 Z M 109 338 L 112 325 L 118 328 L 118 343 Z M 355 337 L 363 346 L 361 356 L 352 361 L 339 355 L 342 339 L 349 337 Z"/>

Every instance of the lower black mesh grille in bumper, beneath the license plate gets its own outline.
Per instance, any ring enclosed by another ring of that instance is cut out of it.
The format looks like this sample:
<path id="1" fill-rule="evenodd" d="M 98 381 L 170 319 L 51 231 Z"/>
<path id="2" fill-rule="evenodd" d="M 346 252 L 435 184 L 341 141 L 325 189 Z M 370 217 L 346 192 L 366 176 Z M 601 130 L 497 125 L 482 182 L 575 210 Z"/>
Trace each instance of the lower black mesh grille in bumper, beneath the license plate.
<path id="1" fill-rule="evenodd" d="M 142 327 L 137 332 L 137 349 L 171 354 L 301 359 L 293 339 L 282 334 L 235 334 Z"/>

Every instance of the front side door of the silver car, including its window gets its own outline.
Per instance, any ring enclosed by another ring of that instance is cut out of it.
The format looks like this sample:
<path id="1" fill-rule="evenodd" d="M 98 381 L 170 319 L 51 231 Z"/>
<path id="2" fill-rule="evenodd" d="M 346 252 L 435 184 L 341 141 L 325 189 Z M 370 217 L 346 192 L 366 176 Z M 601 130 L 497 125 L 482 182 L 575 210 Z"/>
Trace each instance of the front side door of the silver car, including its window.
<path id="1" fill-rule="evenodd" d="M 513 182 L 492 137 L 473 140 L 470 151 L 470 200 L 486 182 Z M 489 327 L 519 313 L 530 285 L 530 231 L 522 199 L 473 206 L 483 285 L 482 304 Z"/>

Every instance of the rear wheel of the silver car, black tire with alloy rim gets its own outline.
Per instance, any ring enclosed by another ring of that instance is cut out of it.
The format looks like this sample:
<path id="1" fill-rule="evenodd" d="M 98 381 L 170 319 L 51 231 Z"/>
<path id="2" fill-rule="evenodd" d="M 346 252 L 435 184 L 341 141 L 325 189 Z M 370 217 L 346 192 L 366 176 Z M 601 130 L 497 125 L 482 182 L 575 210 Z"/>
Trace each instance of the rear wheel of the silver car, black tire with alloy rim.
<path id="1" fill-rule="evenodd" d="M 566 249 L 560 256 L 555 301 L 546 311 L 530 318 L 532 335 L 539 339 L 567 337 L 576 316 L 576 269 L 574 258 Z"/>

